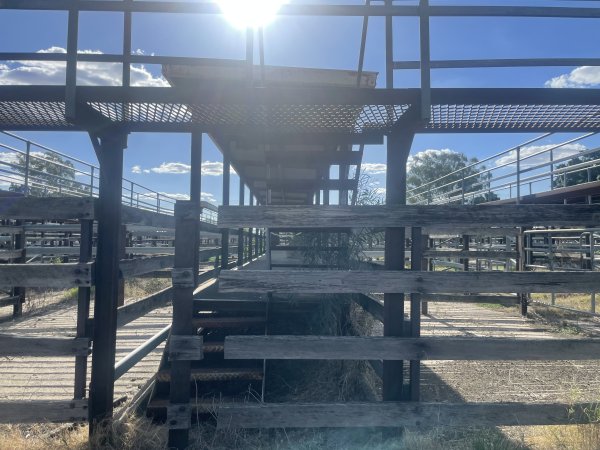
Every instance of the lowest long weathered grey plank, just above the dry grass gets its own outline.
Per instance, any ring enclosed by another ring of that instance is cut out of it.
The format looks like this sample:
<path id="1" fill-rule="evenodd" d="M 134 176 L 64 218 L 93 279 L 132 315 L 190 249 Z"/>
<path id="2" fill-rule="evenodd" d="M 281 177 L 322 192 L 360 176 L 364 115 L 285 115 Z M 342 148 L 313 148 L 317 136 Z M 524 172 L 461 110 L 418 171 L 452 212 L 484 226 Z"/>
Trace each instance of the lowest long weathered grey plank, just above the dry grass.
<path id="1" fill-rule="evenodd" d="M 589 423 L 584 411 L 590 407 L 592 404 L 413 402 L 233 405 L 218 409 L 217 427 L 422 429 Z"/>

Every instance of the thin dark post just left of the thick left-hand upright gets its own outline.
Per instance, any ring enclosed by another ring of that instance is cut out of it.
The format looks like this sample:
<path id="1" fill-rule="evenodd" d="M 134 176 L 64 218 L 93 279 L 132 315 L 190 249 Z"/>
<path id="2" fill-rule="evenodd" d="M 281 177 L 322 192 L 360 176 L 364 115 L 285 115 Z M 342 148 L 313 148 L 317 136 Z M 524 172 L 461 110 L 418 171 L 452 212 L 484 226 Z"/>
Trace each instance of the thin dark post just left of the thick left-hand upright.
<path id="1" fill-rule="evenodd" d="M 79 262 L 87 263 L 92 258 L 92 241 L 94 237 L 94 221 L 81 220 L 81 234 L 79 236 Z M 77 337 L 89 336 L 87 323 L 90 315 L 90 297 L 92 289 L 89 287 L 80 287 L 77 292 Z M 75 357 L 75 383 L 73 398 L 85 398 L 85 388 L 87 383 L 87 355 Z"/>

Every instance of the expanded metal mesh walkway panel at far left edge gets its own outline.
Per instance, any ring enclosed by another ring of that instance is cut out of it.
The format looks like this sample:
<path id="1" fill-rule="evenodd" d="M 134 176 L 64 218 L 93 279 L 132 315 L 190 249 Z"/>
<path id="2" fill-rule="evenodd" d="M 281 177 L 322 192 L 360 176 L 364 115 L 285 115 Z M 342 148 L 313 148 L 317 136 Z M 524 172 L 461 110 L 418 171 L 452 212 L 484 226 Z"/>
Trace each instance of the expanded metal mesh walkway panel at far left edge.
<path id="1" fill-rule="evenodd" d="M 70 128 L 64 102 L 8 101 L 0 103 L 0 128 Z"/>

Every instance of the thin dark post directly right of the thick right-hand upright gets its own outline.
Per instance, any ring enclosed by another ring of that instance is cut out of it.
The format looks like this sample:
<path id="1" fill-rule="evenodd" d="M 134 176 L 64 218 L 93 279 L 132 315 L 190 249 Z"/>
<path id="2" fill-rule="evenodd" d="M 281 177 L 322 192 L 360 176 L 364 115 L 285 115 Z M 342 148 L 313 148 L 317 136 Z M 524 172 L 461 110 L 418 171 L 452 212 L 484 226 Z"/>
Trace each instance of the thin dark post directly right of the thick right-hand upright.
<path id="1" fill-rule="evenodd" d="M 410 270 L 420 272 L 423 269 L 423 230 L 412 228 Z M 421 336 L 421 294 L 410 294 L 410 336 Z M 410 400 L 419 401 L 421 391 L 421 362 L 410 362 Z"/>

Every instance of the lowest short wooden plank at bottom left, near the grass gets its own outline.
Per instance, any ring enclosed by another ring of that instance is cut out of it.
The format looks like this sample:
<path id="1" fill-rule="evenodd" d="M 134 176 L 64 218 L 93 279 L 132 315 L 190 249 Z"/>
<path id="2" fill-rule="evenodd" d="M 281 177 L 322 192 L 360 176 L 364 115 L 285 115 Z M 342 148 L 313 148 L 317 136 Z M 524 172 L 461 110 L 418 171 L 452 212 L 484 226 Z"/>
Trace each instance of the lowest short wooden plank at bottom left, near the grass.
<path id="1" fill-rule="evenodd" d="M 87 400 L 0 401 L 0 423 L 85 422 Z"/>

